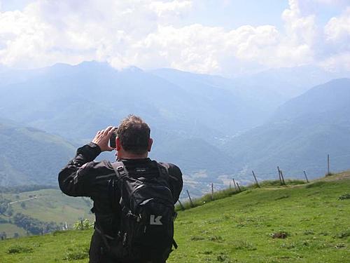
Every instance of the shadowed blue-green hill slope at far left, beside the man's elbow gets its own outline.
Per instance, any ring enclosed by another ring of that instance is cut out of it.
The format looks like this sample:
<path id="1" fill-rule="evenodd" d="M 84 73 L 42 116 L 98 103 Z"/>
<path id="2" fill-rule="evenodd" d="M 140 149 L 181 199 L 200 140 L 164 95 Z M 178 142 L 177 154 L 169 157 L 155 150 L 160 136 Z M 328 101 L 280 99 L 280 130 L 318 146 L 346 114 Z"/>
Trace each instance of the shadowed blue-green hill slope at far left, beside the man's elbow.
<path id="1" fill-rule="evenodd" d="M 57 135 L 0 119 L 0 186 L 57 185 L 75 147 Z"/>

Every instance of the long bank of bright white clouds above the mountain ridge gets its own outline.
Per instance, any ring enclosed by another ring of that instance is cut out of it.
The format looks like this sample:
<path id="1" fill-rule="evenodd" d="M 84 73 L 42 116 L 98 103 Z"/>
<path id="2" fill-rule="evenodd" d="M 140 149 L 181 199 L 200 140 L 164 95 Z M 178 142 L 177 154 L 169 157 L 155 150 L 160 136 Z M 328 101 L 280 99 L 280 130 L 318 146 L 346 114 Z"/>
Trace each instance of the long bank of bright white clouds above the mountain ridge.
<path id="1" fill-rule="evenodd" d="M 216 74 L 310 63 L 330 68 L 339 58 L 320 54 L 349 37 L 349 10 L 332 18 L 323 33 L 314 15 L 302 15 L 297 0 L 289 0 L 282 14 L 284 32 L 273 25 L 179 26 L 190 8 L 188 0 L 37 0 L 23 11 L 0 11 L 0 63 L 42 67 L 100 60 L 118 68 Z"/>

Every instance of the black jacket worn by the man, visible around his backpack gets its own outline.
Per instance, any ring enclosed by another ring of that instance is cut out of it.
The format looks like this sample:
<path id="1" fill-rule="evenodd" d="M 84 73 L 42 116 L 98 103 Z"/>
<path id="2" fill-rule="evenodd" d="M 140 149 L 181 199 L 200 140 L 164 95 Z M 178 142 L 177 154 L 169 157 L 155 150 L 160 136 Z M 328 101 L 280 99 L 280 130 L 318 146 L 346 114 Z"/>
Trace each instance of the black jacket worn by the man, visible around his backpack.
<path id="1" fill-rule="evenodd" d="M 96 223 L 104 234 L 112 236 L 118 228 L 118 196 L 111 196 L 113 178 L 116 176 L 109 161 L 93 161 L 101 149 L 90 142 L 78 148 L 76 156 L 61 170 L 58 175 L 59 188 L 68 196 L 88 196 L 94 201 L 92 211 L 95 213 Z M 154 166 L 151 159 L 122 159 L 127 170 L 137 166 Z M 183 187 L 181 170 L 172 163 L 161 163 L 169 171 L 169 184 L 174 196 L 174 203 L 178 201 Z M 115 192 L 115 191 L 114 191 Z M 102 259 L 102 238 L 94 232 L 90 245 L 90 262 L 108 262 Z"/>

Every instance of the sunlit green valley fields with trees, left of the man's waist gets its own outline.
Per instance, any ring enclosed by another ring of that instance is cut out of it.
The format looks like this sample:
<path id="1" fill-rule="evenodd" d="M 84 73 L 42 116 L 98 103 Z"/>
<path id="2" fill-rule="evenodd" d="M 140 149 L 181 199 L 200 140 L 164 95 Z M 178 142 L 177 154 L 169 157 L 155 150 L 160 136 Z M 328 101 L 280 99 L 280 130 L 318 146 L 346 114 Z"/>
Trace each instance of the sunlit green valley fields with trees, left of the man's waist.
<path id="1" fill-rule="evenodd" d="M 17 234 L 26 235 L 26 230 L 30 227 L 27 224 L 36 224 L 34 230 L 28 231 L 28 234 L 36 234 L 36 231 L 40 231 L 37 228 L 43 228 L 43 232 L 62 229 L 64 224 L 71 228 L 80 218 L 92 220 L 94 217 L 90 213 L 90 198 L 69 197 L 59 189 L 0 194 L 0 199 L 6 200 L 8 206 L 0 214 L 0 233 L 5 232 L 8 238 Z M 25 220 L 21 220 L 20 216 L 26 217 Z M 48 224 L 49 228 L 45 229 Z"/>

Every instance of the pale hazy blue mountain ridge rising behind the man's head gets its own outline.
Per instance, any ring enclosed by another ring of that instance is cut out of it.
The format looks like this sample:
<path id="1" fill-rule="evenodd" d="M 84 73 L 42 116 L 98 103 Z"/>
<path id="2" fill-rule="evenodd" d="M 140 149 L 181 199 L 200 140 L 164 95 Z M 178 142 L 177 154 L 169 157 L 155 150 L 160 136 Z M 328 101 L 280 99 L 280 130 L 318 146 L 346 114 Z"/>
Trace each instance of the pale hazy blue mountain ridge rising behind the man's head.
<path id="1" fill-rule="evenodd" d="M 83 62 L 27 75 L 25 81 L 0 87 L 3 116 L 83 144 L 97 130 L 118 125 L 127 114 L 138 114 L 152 128 L 155 144 L 151 156 L 172 163 L 180 159 L 184 173 L 204 169 L 215 177 L 223 170 L 230 171 L 225 157 L 215 157 L 216 166 L 207 166 L 205 152 L 212 149 L 218 154 L 216 140 L 241 130 L 240 120 L 251 116 L 235 89 L 187 79 L 179 85 L 136 67 L 117 71 L 106 63 Z M 200 142 L 190 144 L 196 151 L 185 150 L 190 140 Z"/>

